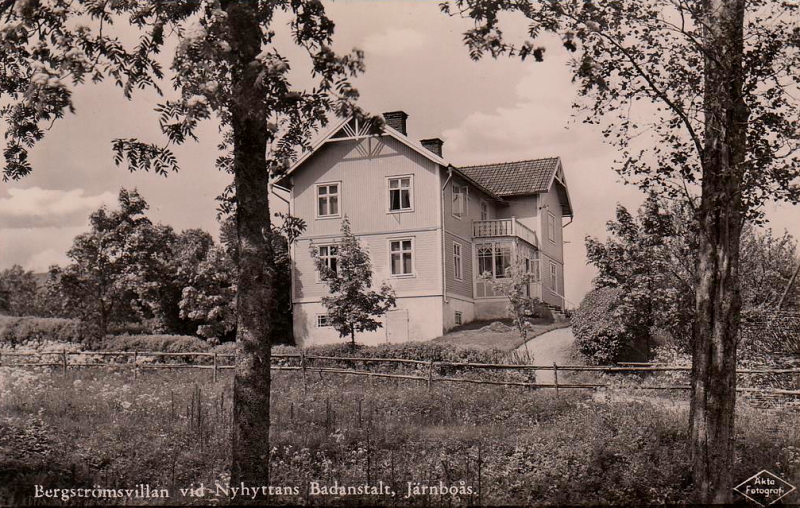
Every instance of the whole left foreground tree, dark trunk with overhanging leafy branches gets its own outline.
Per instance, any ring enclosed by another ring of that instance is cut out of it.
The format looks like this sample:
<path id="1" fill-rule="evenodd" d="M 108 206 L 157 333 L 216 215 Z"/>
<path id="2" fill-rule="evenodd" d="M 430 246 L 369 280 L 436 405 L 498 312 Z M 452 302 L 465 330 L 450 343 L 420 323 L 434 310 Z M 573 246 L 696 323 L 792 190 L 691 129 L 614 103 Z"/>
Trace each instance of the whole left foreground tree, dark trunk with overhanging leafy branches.
<path id="1" fill-rule="evenodd" d="M 292 42 L 310 63 L 313 84 L 296 88 L 276 45 L 276 21 L 288 17 Z M 335 25 L 320 0 L 5 0 L 0 2 L 0 109 L 6 125 L 5 179 L 32 170 L 30 150 L 73 111 L 72 90 L 109 79 L 133 98 L 138 89 L 173 96 L 156 106 L 166 141 L 120 138 L 114 161 L 132 171 L 178 170 L 172 146 L 196 139 L 201 121 L 222 133 L 217 166 L 233 175 L 223 208 L 237 227 L 237 340 L 232 484 L 268 477 L 270 346 L 275 315 L 269 178 L 286 169 L 328 114 L 360 113 L 350 78 L 363 54 L 338 55 Z M 133 45 L 119 26 L 133 27 Z M 172 50 L 165 76 L 159 53 Z M 266 422 L 266 423 L 265 423 Z"/>

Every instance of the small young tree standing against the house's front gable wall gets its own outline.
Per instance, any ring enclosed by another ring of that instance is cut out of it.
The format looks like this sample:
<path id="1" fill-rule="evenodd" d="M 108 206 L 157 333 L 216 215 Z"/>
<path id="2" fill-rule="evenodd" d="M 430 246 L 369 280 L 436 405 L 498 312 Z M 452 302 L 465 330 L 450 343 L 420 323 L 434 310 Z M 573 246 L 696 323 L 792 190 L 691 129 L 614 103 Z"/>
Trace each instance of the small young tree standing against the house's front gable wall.
<path id="1" fill-rule="evenodd" d="M 336 244 L 335 269 L 320 257 L 319 249 L 310 247 L 320 279 L 328 286 L 329 296 L 322 297 L 331 326 L 340 337 L 351 338 L 355 348 L 356 332 L 374 331 L 383 325 L 376 318 L 396 306 L 394 290 L 382 283 L 372 290 L 372 263 L 369 253 L 350 230 L 350 221 L 342 220 L 342 235 Z"/>

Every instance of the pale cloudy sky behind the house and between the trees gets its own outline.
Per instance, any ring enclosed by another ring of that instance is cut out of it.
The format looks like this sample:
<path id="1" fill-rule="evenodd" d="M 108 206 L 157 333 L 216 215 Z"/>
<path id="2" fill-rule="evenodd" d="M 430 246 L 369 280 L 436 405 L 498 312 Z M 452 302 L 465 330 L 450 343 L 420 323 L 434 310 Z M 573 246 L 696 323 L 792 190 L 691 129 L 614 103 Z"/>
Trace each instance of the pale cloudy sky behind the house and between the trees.
<path id="1" fill-rule="evenodd" d="M 617 155 L 600 127 L 583 124 L 571 107 L 577 96 L 557 40 L 543 40 L 545 61 L 470 60 L 462 42 L 469 22 L 448 17 L 439 0 L 325 2 L 336 23 L 334 49 L 364 50 L 366 73 L 354 83 L 359 104 L 377 113 L 403 110 L 409 136 L 440 137 L 454 165 L 561 157 L 575 213 L 564 230 L 566 297 L 577 304 L 591 288 L 584 239 L 604 238 L 617 203 L 635 209 L 641 192 L 613 170 Z M 507 16 L 504 32 L 523 37 L 525 23 Z M 307 66 L 285 35 L 278 44 L 292 62 L 298 86 Z M 110 84 L 75 90 L 76 114 L 57 122 L 31 153 L 34 171 L 0 183 L 0 269 L 13 264 L 37 272 L 66 264 L 72 239 L 88 229 L 88 215 L 114 206 L 120 187 L 138 188 L 150 217 L 175 229 L 216 233 L 216 201 L 230 181 L 214 168 L 217 126 L 199 129 L 200 142 L 175 150 L 181 172 L 164 178 L 114 166 L 111 140 L 160 141 L 154 94 L 126 101 Z M 771 227 L 800 238 L 800 208 L 767 208 Z"/>

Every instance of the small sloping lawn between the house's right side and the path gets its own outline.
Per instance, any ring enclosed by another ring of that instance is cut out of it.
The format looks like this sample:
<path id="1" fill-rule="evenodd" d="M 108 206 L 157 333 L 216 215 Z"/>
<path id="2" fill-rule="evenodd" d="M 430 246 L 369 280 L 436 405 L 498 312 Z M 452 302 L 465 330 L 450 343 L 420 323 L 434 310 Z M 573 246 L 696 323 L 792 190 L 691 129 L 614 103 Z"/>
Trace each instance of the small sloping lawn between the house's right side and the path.
<path id="1" fill-rule="evenodd" d="M 505 325 L 498 327 L 498 331 L 492 330 L 491 324 L 494 321 L 473 321 L 464 326 L 453 329 L 442 337 L 433 339 L 432 342 L 439 344 L 452 344 L 454 346 L 469 347 L 476 349 L 501 349 L 511 351 L 523 344 L 519 332 L 511 325 L 510 320 L 501 321 Z M 538 320 L 532 323 L 531 331 L 528 332 L 528 340 L 538 337 L 543 333 L 558 328 L 569 326 L 569 322 L 553 323 L 548 320 Z"/>

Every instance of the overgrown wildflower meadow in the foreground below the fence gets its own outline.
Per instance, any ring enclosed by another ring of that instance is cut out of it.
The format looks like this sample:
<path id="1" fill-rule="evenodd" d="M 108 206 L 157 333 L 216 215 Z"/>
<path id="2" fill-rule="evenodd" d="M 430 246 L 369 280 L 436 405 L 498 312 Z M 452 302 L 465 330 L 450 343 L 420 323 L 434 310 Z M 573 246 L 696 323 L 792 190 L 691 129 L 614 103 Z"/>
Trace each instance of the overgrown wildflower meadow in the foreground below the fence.
<path id="1" fill-rule="evenodd" d="M 216 504 L 228 483 L 231 378 L 207 372 L 67 375 L 0 368 L 0 504 L 58 504 L 42 489 L 166 489 L 169 498 L 72 504 Z M 274 376 L 269 484 L 283 504 L 530 505 L 686 502 L 683 408 L 596 402 L 590 393 Z M 800 418 L 742 407 L 734 477 L 800 482 Z M 776 429 L 780 429 L 777 431 Z M 312 482 L 388 495 L 314 495 Z M 454 493 L 404 496 L 408 482 Z M 439 483 L 441 482 L 441 484 Z M 462 483 L 463 482 L 463 483 Z M 201 498 L 181 488 L 209 489 Z M 469 488 L 467 488 L 469 487 Z M 459 490 L 460 489 L 460 490 Z M 230 493 L 229 493 L 230 494 Z M 259 498 L 261 499 L 261 498 Z M 236 502 L 237 499 L 233 499 Z M 798 499 L 789 499 L 789 502 Z"/>

